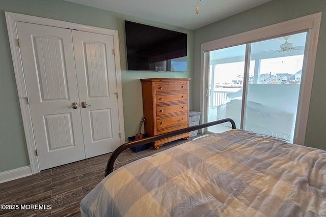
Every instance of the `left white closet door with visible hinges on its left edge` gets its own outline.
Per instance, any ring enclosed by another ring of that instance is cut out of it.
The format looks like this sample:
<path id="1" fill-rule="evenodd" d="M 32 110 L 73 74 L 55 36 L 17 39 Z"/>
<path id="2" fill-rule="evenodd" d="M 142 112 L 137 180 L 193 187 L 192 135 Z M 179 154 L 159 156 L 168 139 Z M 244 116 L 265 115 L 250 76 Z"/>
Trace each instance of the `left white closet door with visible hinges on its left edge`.
<path id="1" fill-rule="evenodd" d="M 40 170 L 85 159 L 71 30 L 17 29 Z"/>

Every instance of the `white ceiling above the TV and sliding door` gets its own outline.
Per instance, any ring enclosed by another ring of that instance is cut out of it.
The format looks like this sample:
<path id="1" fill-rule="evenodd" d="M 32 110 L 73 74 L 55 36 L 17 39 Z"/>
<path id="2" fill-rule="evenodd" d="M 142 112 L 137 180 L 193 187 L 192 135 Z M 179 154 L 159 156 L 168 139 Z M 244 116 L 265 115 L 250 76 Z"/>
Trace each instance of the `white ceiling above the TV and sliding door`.
<path id="1" fill-rule="evenodd" d="M 271 0 L 66 0 L 128 16 L 197 29 Z M 199 13 L 196 14 L 196 7 Z"/>

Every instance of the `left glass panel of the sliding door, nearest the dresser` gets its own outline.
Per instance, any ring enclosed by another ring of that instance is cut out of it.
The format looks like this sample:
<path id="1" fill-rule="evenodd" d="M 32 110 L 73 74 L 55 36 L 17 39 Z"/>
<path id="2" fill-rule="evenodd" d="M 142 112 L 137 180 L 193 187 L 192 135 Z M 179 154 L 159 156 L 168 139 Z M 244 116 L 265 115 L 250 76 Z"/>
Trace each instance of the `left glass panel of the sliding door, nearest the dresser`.
<path id="1" fill-rule="evenodd" d="M 220 50 L 210 51 L 209 55 L 209 86 L 208 95 L 208 121 L 230 117 L 239 120 L 241 106 L 227 110 L 227 102 L 230 97 L 236 97 L 242 101 L 240 91 L 243 87 L 244 76 L 244 53 L 246 45 L 239 45 Z M 239 125 L 236 125 L 239 127 Z M 223 132 L 231 127 L 229 123 L 216 125 L 208 128 L 210 132 Z"/>

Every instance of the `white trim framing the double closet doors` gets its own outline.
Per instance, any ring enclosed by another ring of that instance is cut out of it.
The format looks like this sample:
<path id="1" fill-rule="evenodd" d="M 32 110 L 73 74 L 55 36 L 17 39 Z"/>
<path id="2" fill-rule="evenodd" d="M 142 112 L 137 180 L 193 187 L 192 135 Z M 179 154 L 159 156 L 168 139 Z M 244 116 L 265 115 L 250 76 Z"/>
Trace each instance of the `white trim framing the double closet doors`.
<path id="1" fill-rule="evenodd" d="M 32 119 L 30 116 L 30 108 L 28 101 L 26 100 L 28 95 L 26 91 L 24 73 L 22 69 L 20 48 L 18 46 L 18 35 L 16 22 L 34 23 L 47 26 L 55 26 L 61 28 L 77 29 L 84 32 L 98 33 L 103 35 L 113 36 L 115 47 L 115 66 L 116 66 L 116 78 L 117 78 L 117 91 L 118 91 L 118 107 L 119 107 L 119 128 L 121 135 L 121 143 L 124 143 L 124 120 L 123 120 L 123 105 L 122 105 L 122 85 L 121 85 L 121 69 L 120 69 L 120 55 L 119 55 L 119 38 L 118 31 L 112 29 L 99 28 L 94 26 L 87 26 L 82 24 L 76 24 L 71 22 L 52 20 L 42 17 L 35 17 L 30 15 L 23 15 L 11 12 L 5 12 L 7 29 L 9 36 L 9 43 L 11 49 L 11 55 L 13 60 L 13 67 L 16 78 L 16 85 L 18 90 L 18 98 L 20 104 L 20 110 L 22 115 L 24 133 L 26 138 L 26 145 L 29 154 L 29 160 L 31 164 L 32 174 L 40 172 L 39 163 L 35 153 L 35 140 L 32 127 Z"/>

